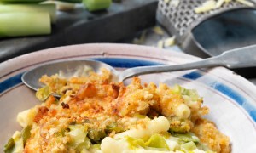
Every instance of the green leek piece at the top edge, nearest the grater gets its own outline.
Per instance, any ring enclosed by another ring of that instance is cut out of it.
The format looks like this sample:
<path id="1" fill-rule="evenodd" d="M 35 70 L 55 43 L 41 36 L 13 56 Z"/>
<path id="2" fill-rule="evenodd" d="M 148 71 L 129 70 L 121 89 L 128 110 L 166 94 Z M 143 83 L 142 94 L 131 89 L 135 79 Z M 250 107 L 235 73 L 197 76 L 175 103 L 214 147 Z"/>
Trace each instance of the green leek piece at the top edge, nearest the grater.
<path id="1" fill-rule="evenodd" d="M 108 8 L 112 0 L 83 0 L 84 7 L 89 11 L 96 11 Z"/>

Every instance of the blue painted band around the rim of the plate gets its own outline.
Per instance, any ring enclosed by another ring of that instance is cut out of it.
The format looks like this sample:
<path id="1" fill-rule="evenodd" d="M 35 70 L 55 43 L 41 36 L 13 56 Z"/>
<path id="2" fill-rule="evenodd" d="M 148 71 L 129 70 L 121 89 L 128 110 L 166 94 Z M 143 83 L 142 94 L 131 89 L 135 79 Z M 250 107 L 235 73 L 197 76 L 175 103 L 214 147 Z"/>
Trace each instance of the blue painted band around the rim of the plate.
<path id="1" fill-rule="evenodd" d="M 98 61 L 102 61 L 108 65 L 112 65 L 113 67 L 119 68 L 131 68 L 136 66 L 146 66 L 146 65 L 161 65 L 158 62 L 152 62 L 143 59 L 125 59 L 125 58 L 92 58 Z M 182 78 L 189 79 L 189 80 L 197 80 L 198 78 L 203 76 L 203 71 L 192 71 L 188 74 L 182 76 Z M 21 76 L 23 73 L 17 74 L 13 77 L 9 77 L 8 79 L 0 82 L 0 94 L 9 90 L 10 88 L 14 88 L 18 84 L 22 83 Z M 214 80 L 210 78 L 210 80 Z M 240 105 L 247 114 L 252 118 L 253 122 L 256 122 L 256 107 L 250 104 L 246 98 L 244 98 L 241 94 L 237 93 L 232 88 L 228 87 L 222 82 L 216 82 L 212 85 L 211 82 L 207 82 L 207 86 L 217 90 L 218 92 L 226 95 L 230 99 L 233 99 L 237 105 Z M 1 96 L 0 96 L 1 97 Z"/>

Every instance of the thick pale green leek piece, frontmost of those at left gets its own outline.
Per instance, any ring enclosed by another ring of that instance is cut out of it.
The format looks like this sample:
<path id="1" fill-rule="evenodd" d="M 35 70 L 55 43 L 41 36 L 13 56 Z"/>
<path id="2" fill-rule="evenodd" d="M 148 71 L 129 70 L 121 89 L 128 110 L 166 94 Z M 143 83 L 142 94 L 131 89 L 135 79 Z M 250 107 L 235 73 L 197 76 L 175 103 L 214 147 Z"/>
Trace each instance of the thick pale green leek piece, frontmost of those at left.
<path id="1" fill-rule="evenodd" d="M 49 14 L 34 13 L 1 13 L 0 37 L 20 37 L 50 34 Z"/>

